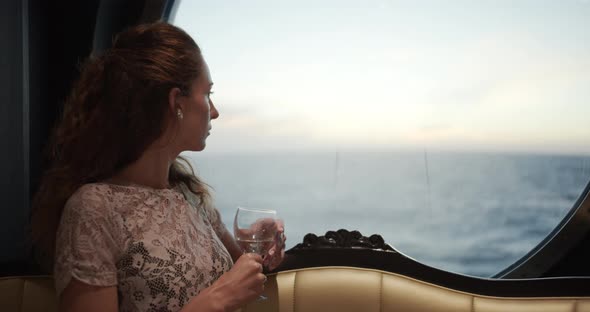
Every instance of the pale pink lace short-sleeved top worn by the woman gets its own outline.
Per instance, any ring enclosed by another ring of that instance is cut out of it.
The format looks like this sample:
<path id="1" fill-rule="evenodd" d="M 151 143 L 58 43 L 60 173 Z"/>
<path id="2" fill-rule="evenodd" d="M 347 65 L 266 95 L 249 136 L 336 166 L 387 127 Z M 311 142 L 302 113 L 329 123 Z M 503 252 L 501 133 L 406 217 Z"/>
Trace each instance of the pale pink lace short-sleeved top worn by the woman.
<path id="1" fill-rule="evenodd" d="M 178 311 L 233 265 L 219 212 L 185 187 L 86 184 L 57 233 L 58 295 L 72 278 L 117 286 L 119 311 Z"/>

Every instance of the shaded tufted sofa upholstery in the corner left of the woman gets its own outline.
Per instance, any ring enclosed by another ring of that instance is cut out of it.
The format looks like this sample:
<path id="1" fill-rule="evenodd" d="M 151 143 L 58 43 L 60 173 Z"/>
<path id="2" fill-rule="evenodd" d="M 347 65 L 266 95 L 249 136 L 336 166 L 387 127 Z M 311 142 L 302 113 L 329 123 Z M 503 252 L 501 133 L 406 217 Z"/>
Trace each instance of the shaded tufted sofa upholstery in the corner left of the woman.
<path id="1" fill-rule="evenodd" d="M 0 311 L 57 311 L 53 279 L 50 276 L 0 277 Z"/>

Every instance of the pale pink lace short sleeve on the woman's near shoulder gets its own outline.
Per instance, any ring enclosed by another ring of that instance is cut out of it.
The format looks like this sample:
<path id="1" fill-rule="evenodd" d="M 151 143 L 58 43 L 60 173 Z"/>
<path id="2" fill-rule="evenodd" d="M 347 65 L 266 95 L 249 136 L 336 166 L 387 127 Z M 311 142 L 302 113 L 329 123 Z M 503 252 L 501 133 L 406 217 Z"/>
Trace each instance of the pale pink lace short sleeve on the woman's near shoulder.
<path id="1" fill-rule="evenodd" d="M 108 195 L 83 186 L 64 207 L 55 253 L 57 294 L 71 278 L 94 286 L 117 284 L 117 231 L 109 218 Z"/>

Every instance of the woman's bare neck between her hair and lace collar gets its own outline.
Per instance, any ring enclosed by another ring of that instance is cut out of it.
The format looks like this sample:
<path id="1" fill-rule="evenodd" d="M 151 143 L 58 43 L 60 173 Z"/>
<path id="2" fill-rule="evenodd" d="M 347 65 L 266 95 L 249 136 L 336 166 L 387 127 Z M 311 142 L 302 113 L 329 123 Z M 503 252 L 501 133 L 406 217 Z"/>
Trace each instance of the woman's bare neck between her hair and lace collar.
<path id="1" fill-rule="evenodd" d="M 168 173 L 176 157 L 165 149 L 147 150 L 141 157 L 117 172 L 107 182 L 114 184 L 137 184 L 151 188 L 170 188 Z"/>

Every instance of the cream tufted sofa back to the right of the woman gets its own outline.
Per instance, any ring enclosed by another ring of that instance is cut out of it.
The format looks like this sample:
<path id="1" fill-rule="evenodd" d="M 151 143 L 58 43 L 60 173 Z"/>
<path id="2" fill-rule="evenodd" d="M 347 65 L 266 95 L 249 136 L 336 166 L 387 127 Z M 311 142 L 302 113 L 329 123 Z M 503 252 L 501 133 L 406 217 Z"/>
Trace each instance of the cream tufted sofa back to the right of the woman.
<path id="1" fill-rule="evenodd" d="M 590 297 L 481 296 L 351 267 L 283 271 L 269 277 L 265 292 L 269 300 L 254 302 L 243 311 L 590 312 Z"/>

